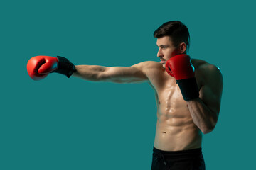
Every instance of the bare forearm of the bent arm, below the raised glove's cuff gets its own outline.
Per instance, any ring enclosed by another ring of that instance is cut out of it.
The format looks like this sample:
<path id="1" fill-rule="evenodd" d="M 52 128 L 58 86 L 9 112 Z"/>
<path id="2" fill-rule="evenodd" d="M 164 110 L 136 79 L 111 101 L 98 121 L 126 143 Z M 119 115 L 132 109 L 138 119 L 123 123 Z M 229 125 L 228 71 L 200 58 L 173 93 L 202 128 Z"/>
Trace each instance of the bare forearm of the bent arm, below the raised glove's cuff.
<path id="1" fill-rule="evenodd" d="M 217 115 L 210 111 L 201 98 L 195 98 L 191 101 L 187 101 L 188 109 L 193 118 L 193 122 L 198 126 L 198 128 L 204 133 L 211 132 L 216 123 Z"/>

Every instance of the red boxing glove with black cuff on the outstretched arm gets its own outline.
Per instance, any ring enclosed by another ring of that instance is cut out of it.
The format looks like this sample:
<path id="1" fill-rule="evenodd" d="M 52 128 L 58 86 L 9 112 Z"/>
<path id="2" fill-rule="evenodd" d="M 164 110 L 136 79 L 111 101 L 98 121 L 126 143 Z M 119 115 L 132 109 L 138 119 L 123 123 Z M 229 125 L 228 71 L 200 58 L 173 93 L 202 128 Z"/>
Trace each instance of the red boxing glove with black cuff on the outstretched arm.
<path id="1" fill-rule="evenodd" d="M 28 75 L 33 80 L 44 79 L 49 73 L 57 72 L 68 78 L 76 72 L 75 66 L 65 57 L 50 57 L 39 55 L 28 60 Z"/>

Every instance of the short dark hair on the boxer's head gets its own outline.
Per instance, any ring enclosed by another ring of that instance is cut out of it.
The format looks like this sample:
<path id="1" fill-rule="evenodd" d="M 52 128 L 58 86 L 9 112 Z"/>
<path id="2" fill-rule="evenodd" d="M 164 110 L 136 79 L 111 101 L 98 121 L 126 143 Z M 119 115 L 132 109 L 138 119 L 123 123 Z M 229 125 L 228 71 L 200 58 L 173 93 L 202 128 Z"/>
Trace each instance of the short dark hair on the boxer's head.
<path id="1" fill-rule="evenodd" d="M 162 38 L 164 36 L 171 37 L 175 47 L 178 47 L 181 42 L 185 42 L 187 46 L 190 45 L 188 28 L 181 21 L 163 23 L 154 31 L 154 38 Z"/>

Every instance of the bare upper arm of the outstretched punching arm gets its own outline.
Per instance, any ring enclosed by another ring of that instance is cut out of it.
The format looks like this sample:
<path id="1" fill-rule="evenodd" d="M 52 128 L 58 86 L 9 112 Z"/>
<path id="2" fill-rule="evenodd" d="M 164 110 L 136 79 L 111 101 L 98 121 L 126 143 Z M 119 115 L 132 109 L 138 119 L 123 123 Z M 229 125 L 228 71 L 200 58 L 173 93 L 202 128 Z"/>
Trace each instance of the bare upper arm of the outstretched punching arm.
<path id="1" fill-rule="evenodd" d="M 135 64 L 131 67 L 107 67 L 102 74 L 103 81 L 114 83 L 139 83 L 148 81 L 146 74 Z"/>

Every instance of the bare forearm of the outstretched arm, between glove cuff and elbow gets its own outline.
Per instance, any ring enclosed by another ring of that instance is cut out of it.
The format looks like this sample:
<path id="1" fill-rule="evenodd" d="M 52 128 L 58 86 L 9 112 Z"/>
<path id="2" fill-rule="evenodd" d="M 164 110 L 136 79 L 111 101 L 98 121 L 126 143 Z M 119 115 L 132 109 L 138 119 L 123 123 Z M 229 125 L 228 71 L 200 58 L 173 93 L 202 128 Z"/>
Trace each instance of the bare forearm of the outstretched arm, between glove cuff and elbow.
<path id="1" fill-rule="evenodd" d="M 100 81 L 102 73 L 105 72 L 107 67 L 97 65 L 76 65 L 77 72 L 73 76 L 87 81 Z"/>

